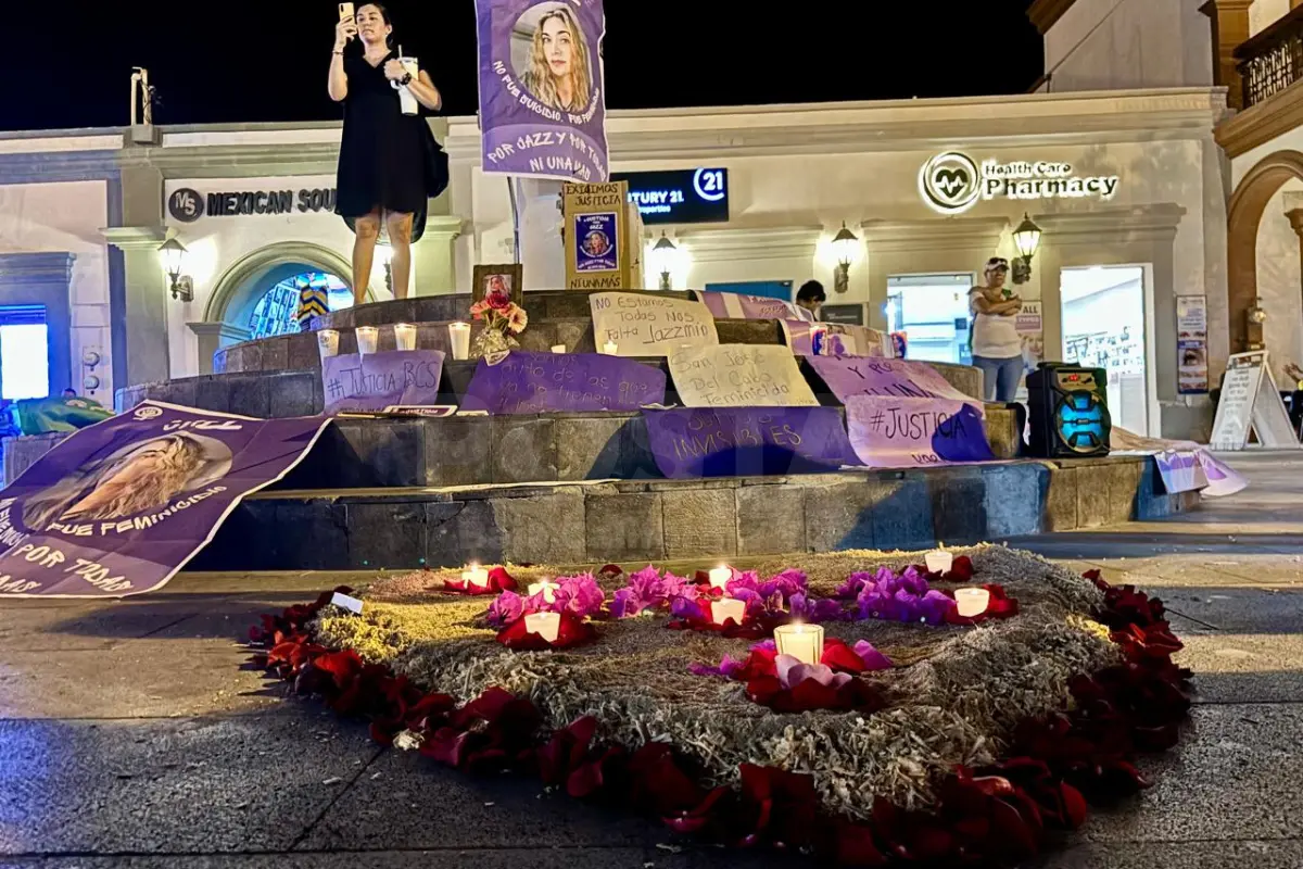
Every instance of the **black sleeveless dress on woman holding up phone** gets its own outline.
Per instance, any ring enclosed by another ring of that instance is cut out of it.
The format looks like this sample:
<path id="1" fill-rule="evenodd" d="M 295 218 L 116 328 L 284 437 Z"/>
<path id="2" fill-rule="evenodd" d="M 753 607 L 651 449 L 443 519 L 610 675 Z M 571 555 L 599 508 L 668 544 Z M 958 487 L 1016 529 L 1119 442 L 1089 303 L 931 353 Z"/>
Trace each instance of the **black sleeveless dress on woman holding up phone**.
<path id="1" fill-rule="evenodd" d="M 404 115 L 399 91 L 360 52 L 344 55 L 348 96 L 344 98 L 344 135 L 339 150 L 335 211 L 349 228 L 353 219 L 377 208 L 416 215 L 413 240 L 425 229 L 431 198 L 448 186 L 448 158 L 420 115 Z"/>

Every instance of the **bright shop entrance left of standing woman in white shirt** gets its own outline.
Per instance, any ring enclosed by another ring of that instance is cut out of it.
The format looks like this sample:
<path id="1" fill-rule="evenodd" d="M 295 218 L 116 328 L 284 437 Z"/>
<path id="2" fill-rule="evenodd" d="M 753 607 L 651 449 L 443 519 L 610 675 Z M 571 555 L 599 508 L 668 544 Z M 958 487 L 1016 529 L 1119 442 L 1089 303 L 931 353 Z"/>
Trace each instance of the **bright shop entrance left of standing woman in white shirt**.
<path id="1" fill-rule="evenodd" d="M 972 365 L 968 341 L 972 288 L 971 272 L 887 278 L 887 328 L 906 334 L 908 358 Z"/>

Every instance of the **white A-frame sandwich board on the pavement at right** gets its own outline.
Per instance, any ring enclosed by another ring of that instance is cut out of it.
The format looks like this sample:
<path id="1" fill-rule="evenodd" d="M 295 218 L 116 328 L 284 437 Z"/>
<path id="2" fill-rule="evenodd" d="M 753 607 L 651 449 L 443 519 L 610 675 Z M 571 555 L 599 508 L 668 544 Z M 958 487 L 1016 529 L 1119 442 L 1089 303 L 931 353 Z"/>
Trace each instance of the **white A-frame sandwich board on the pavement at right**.
<path id="1" fill-rule="evenodd" d="M 1267 350 L 1235 353 L 1227 360 L 1209 446 L 1243 449 L 1250 430 L 1257 434 L 1257 443 L 1269 449 L 1303 448 L 1267 363 Z"/>

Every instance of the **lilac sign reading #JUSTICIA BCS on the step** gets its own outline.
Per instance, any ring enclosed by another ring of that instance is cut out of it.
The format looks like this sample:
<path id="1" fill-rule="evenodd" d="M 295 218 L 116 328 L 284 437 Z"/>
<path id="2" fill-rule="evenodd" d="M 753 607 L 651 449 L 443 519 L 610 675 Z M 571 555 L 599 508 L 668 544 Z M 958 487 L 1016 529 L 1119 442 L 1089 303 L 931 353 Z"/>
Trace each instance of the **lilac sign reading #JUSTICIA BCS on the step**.
<path id="1" fill-rule="evenodd" d="M 331 356 L 322 360 L 326 414 L 437 405 L 442 377 L 440 350 Z"/>

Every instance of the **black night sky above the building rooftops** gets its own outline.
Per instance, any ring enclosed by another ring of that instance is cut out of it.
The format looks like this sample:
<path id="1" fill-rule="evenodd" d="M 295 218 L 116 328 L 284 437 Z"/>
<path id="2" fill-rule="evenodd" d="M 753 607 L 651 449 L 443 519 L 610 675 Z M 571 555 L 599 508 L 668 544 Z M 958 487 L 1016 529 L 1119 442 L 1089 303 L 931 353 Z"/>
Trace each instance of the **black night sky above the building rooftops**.
<path id="1" fill-rule="evenodd" d="M 158 124 L 337 119 L 339 107 L 326 96 L 336 5 L 136 0 L 39 7 L 53 21 L 31 7 L 23 17 L 34 16 L 39 33 L 8 39 L 0 53 L 0 129 L 125 125 L 132 66 L 150 70 L 162 98 Z M 891 16 L 864 10 L 896 7 L 880 0 L 809 1 L 739 22 L 736 9 L 752 5 L 610 0 L 607 104 L 1019 94 L 1042 72 L 1041 40 L 1025 16 L 1029 0 L 967 0 L 945 4 L 962 9 L 946 12 L 937 12 L 942 4 L 907 1 Z M 392 0 L 388 7 L 395 36 L 434 76 L 447 113 L 474 113 L 472 0 Z"/>

